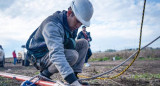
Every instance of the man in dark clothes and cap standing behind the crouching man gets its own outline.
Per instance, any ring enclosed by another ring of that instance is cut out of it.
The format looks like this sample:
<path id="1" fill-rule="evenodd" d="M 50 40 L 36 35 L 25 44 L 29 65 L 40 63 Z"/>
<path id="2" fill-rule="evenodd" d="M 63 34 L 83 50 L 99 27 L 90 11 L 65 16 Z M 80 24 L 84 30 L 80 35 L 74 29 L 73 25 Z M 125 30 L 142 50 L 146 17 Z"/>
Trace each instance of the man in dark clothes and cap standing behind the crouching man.
<path id="1" fill-rule="evenodd" d="M 88 59 L 92 56 L 92 51 L 91 51 L 91 48 L 90 48 L 90 42 L 92 41 L 92 38 L 90 36 L 90 32 L 86 31 L 85 26 L 82 27 L 82 31 L 78 34 L 77 39 L 86 39 L 89 43 L 88 52 L 87 52 L 87 55 L 86 55 L 86 58 L 85 58 L 85 64 L 84 64 L 85 67 L 89 67 L 90 64 L 88 64 Z"/>

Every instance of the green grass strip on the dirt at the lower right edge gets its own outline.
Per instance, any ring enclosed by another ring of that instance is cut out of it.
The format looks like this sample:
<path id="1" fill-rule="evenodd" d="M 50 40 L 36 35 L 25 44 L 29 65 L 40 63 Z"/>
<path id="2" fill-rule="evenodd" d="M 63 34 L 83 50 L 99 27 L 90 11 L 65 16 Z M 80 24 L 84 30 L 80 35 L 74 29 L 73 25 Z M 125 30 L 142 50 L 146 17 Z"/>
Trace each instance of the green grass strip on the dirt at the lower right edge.
<path id="1" fill-rule="evenodd" d="M 132 78 L 134 79 L 151 79 L 151 78 L 158 78 L 160 79 L 160 74 L 150 74 L 150 73 L 144 73 L 144 74 L 136 74 L 132 75 Z"/>

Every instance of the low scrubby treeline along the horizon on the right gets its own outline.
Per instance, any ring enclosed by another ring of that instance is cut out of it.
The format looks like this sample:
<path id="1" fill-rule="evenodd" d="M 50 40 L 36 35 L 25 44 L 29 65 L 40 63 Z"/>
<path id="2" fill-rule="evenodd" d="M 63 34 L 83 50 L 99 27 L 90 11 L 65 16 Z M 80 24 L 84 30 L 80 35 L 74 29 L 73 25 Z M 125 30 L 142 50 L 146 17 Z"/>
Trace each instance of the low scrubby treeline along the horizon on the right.
<path id="1" fill-rule="evenodd" d="M 93 53 L 92 58 L 113 58 L 113 57 L 121 57 L 121 58 L 128 58 L 131 56 L 134 52 L 136 52 L 138 49 L 125 49 L 125 50 L 113 50 L 113 49 L 108 49 L 104 52 L 96 52 Z M 143 50 L 141 50 L 139 57 L 144 57 L 144 58 L 160 58 L 160 48 L 152 48 L 152 47 L 147 47 Z"/>

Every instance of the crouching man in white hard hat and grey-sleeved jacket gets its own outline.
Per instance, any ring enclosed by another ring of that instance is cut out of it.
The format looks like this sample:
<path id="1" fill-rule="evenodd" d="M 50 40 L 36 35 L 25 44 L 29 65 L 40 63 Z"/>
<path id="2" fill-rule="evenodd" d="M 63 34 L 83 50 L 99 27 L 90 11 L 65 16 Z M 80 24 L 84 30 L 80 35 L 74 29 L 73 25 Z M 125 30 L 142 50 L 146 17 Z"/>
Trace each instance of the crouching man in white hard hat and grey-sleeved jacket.
<path id="1" fill-rule="evenodd" d="M 68 11 L 47 17 L 29 37 L 27 55 L 40 74 L 50 78 L 59 72 L 72 86 L 81 86 L 77 74 L 82 72 L 88 42 L 76 40 L 78 28 L 90 26 L 93 6 L 89 0 L 73 0 Z"/>

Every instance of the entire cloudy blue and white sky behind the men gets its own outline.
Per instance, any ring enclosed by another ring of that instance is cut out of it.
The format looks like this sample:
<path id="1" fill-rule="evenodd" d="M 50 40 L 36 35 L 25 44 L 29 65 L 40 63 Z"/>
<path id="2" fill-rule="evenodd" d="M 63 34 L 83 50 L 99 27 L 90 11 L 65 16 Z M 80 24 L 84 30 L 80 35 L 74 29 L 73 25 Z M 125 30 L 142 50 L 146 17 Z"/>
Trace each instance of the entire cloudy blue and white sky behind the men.
<path id="1" fill-rule="evenodd" d="M 144 0 L 90 0 L 94 52 L 137 48 Z M 49 15 L 66 10 L 71 0 L 0 0 L 0 44 L 6 56 L 21 51 L 29 35 Z M 147 0 L 142 46 L 160 35 L 160 0 Z M 81 28 L 79 29 L 81 31 Z M 160 47 L 160 40 L 150 47 Z"/>

